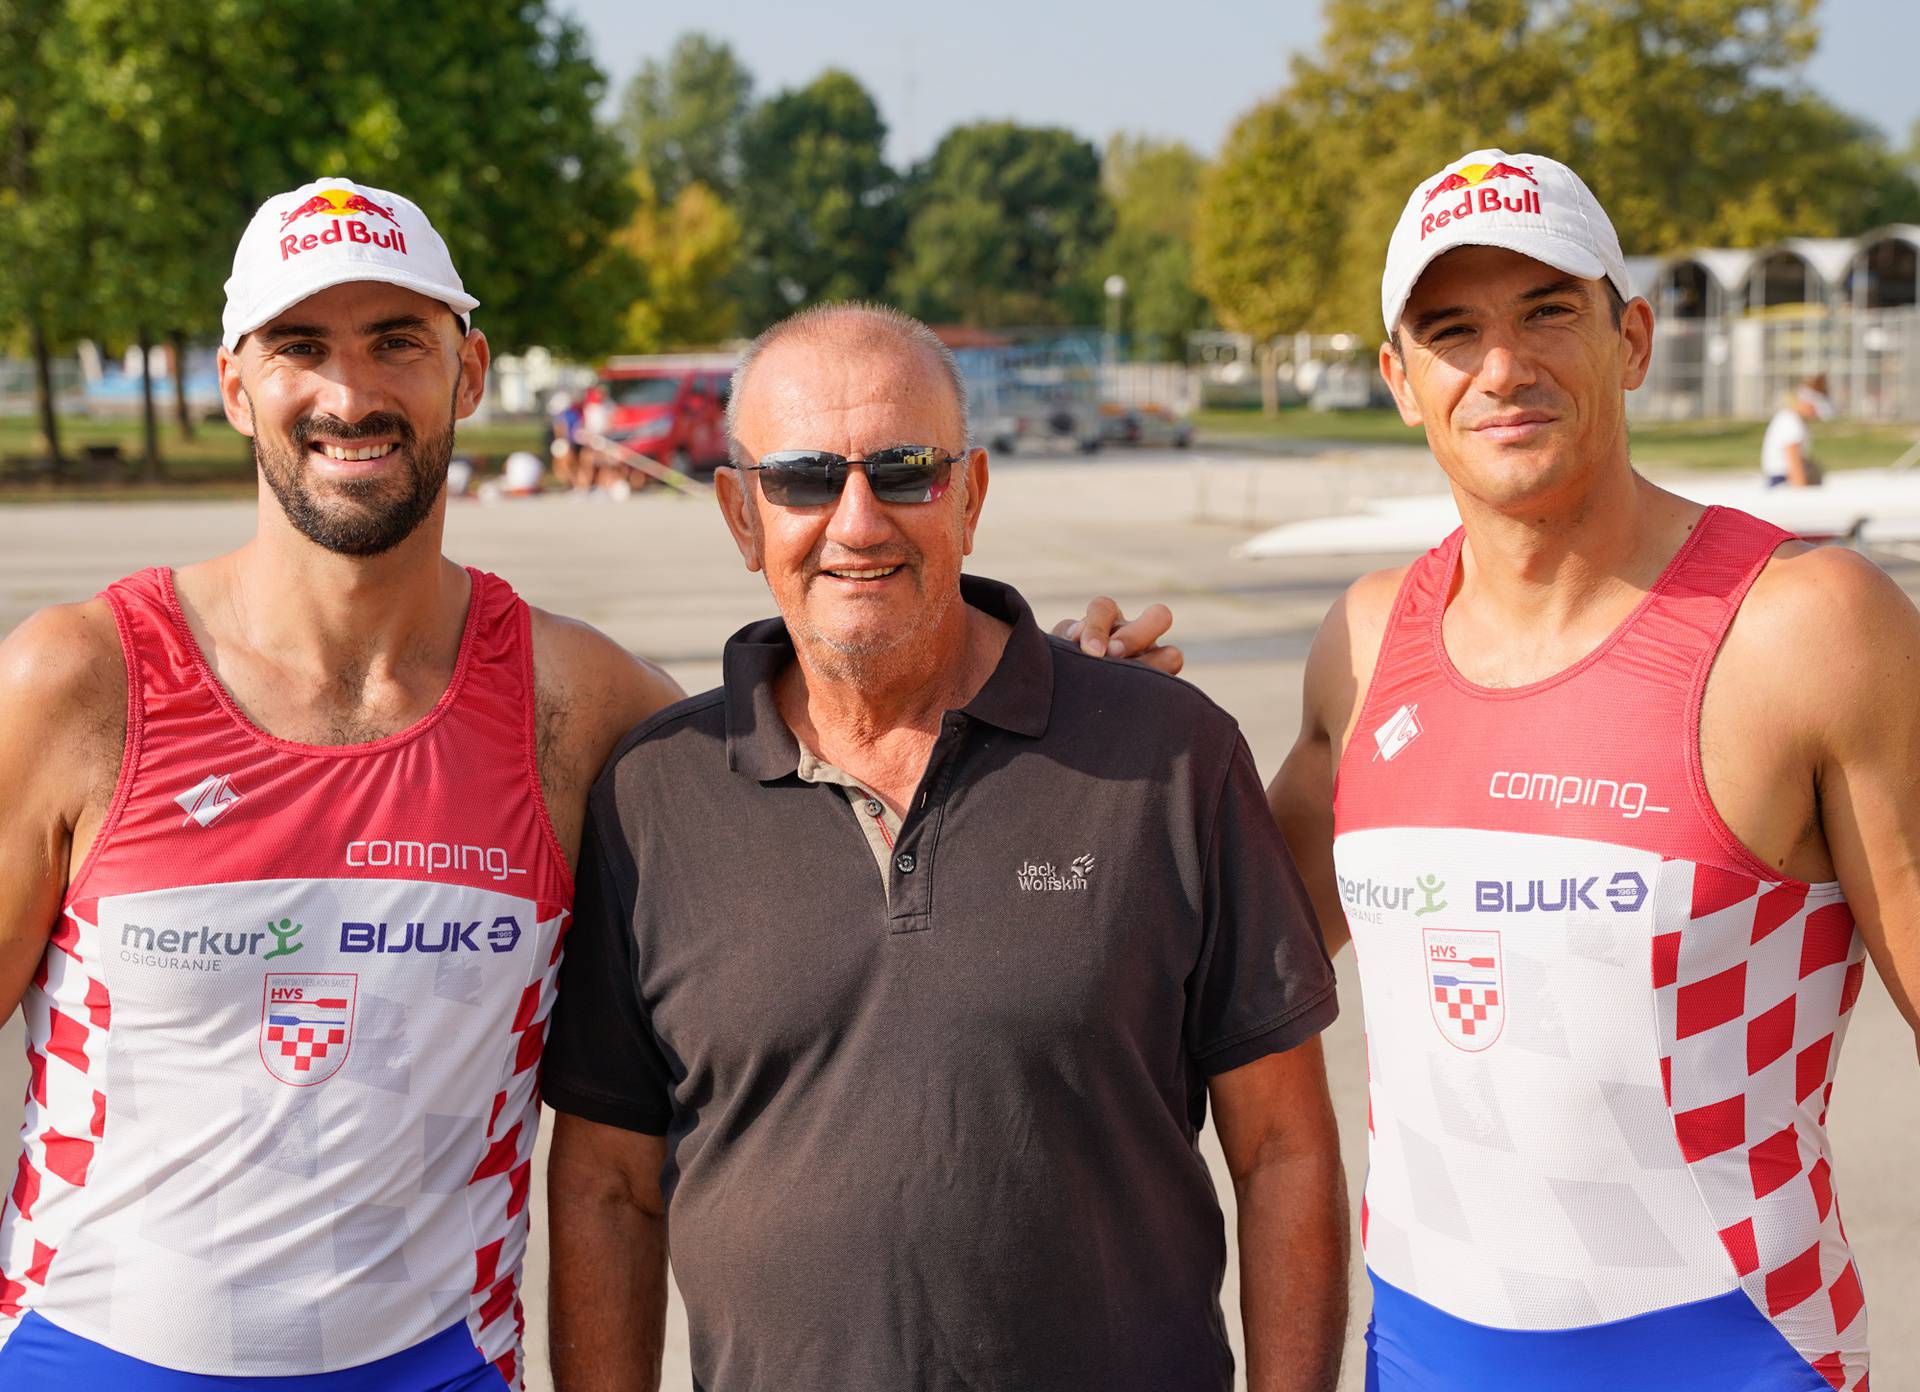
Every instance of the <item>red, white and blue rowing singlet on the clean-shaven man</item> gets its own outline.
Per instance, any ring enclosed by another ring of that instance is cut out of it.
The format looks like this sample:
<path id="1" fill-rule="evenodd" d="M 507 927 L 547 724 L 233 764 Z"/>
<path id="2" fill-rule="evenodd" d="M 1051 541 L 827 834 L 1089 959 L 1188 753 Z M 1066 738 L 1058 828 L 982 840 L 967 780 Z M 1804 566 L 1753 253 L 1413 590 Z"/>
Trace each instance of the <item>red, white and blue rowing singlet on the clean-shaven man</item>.
<path id="1" fill-rule="evenodd" d="M 1448 660 L 1407 570 L 1340 760 L 1379 1388 L 1866 1388 L 1826 1110 L 1864 948 L 1707 797 L 1699 708 L 1786 532 L 1707 509 L 1544 682 Z"/>

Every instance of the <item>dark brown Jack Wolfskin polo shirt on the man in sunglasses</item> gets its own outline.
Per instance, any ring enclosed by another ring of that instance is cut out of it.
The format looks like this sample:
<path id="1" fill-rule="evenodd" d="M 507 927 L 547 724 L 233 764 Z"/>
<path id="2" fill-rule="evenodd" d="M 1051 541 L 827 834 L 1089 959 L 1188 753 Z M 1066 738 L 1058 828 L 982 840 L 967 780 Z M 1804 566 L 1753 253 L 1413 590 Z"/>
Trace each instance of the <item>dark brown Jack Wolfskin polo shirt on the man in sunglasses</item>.
<path id="1" fill-rule="evenodd" d="M 1014 626 L 889 881 L 799 778 L 780 620 L 591 797 L 545 1096 L 666 1135 L 707 1392 L 1227 1392 L 1206 1079 L 1334 1018 L 1235 722 Z"/>

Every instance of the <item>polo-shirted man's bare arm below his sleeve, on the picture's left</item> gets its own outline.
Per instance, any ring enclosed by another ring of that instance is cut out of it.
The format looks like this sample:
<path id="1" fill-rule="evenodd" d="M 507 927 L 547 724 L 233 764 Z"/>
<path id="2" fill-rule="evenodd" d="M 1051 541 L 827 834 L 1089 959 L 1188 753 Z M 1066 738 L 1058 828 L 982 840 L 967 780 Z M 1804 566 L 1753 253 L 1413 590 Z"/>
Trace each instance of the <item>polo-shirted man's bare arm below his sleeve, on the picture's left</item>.
<path id="1" fill-rule="evenodd" d="M 555 1392 L 659 1392 L 666 1139 L 557 1114 L 547 1160 Z"/>

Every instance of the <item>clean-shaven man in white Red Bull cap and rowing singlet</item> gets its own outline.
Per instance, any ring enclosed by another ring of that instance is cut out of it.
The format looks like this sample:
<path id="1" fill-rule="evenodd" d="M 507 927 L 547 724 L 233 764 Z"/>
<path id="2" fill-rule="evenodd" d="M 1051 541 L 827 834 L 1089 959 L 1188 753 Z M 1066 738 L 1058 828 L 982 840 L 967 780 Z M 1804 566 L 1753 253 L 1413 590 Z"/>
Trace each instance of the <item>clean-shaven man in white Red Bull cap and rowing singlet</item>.
<path id="1" fill-rule="evenodd" d="M 1868 956 L 1916 1018 L 1920 616 L 1634 472 L 1565 165 L 1425 180 L 1380 298 L 1463 526 L 1334 605 L 1269 789 L 1365 998 L 1367 1386 L 1864 1390 L 1826 1108 Z"/>

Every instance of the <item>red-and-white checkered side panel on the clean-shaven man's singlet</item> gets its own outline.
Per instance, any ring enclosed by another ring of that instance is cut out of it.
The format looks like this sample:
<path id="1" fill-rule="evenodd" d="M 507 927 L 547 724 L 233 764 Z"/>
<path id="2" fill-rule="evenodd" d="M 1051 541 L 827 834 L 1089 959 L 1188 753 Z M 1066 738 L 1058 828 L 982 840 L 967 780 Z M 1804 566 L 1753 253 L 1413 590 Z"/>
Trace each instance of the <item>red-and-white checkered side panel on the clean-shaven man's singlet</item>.
<path id="1" fill-rule="evenodd" d="M 1860 1275 L 1834 1198 L 1826 1108 L 1866 947 L 1837 885 L 1693 866 L 1653 945 L 1674 1133 L 1753 1304 L 1834 1388 L 1866 1388 Z"/>

